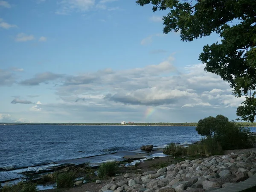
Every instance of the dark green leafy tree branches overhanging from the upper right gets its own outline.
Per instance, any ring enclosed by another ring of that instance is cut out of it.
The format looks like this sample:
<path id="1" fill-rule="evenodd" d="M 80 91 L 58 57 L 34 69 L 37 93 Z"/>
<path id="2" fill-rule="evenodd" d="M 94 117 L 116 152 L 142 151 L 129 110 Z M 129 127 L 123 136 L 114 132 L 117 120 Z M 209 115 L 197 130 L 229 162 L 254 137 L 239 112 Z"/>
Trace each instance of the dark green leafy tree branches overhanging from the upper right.
<path id="1" fill-rule="evenodd" d="M 182 41 L 211 35 L 221 43 L 205 45 L 199 60 L 204 70 L 230 83 L 236 97 L 245 96 L 237 108 L 241 120 L 256 116 L 256 0 L 137 0 L 153 5 L 153 12 L 169 10 L 163 17 L 165 34 L 180 32 Z M 239 120 L 239 119 L 238 119 Z"/>

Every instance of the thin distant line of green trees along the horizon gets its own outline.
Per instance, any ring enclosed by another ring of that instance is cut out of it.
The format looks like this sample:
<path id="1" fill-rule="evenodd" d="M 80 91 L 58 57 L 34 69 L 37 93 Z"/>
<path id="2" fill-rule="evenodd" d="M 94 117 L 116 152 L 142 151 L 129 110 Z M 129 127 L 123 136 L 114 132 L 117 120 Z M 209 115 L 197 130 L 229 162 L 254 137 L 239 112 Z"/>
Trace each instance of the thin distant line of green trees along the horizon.
<path id="1" fill-rule="evenodd" d="M 256 122 L 238 122 L 244 127 L 256 127 Z M 169 123 L 169 122 L 155 122 L 155 123 L 126 123 L 125 125 L 139 125 L 139 126 L 197 126 L 197 122 L 183 122 L 183 123 Z M 0 125 L 121 125 L 121 123 L 0 123 Z"/>

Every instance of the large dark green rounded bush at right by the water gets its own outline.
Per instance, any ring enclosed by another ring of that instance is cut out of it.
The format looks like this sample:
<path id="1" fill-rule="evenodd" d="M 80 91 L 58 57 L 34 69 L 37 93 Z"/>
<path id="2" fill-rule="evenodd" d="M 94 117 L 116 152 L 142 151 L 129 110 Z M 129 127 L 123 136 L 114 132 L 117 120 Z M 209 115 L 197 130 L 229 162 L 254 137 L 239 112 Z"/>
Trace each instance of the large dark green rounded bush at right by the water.
<path id="1" fill-rule="evenodd" d="M 252 148 L 255 143 L 249 128 L 241 127 L 223 115 L 199 120 L 196 131 L 202 136 L 215 139 L 223 150 Z"/>

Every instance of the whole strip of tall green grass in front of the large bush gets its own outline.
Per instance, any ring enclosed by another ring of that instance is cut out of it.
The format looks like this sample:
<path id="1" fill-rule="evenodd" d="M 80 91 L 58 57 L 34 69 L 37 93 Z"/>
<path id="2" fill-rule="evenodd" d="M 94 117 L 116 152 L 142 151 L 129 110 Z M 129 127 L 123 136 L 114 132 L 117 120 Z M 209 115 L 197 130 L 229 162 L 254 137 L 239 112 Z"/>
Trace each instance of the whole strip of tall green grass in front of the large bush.
<path id="1" fill-rule="evenodd" d="M 223 154 L 223 150 L 221 145 L 213 138 L 204 138 L 201 142 L 189 145 L 188 147 L 178 146 L 175 145 L 175 143 L 171 143 L 164 148 L 163 153 L 176 157 L 202 157 L 205 155 Z"/>

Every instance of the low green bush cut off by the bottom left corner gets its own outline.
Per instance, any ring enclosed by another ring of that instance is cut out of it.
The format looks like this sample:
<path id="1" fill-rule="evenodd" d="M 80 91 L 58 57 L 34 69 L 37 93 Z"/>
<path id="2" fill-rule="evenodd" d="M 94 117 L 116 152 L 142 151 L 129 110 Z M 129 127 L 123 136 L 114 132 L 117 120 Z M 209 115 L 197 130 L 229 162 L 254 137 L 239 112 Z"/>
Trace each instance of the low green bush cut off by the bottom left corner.
<path id="1" fill-rule="evenodd" d="M 37 186 L 35 183 L 19 182 L 17 185 L 5 185 L 1 189 L 1 192 L 37 192 Z"/>

